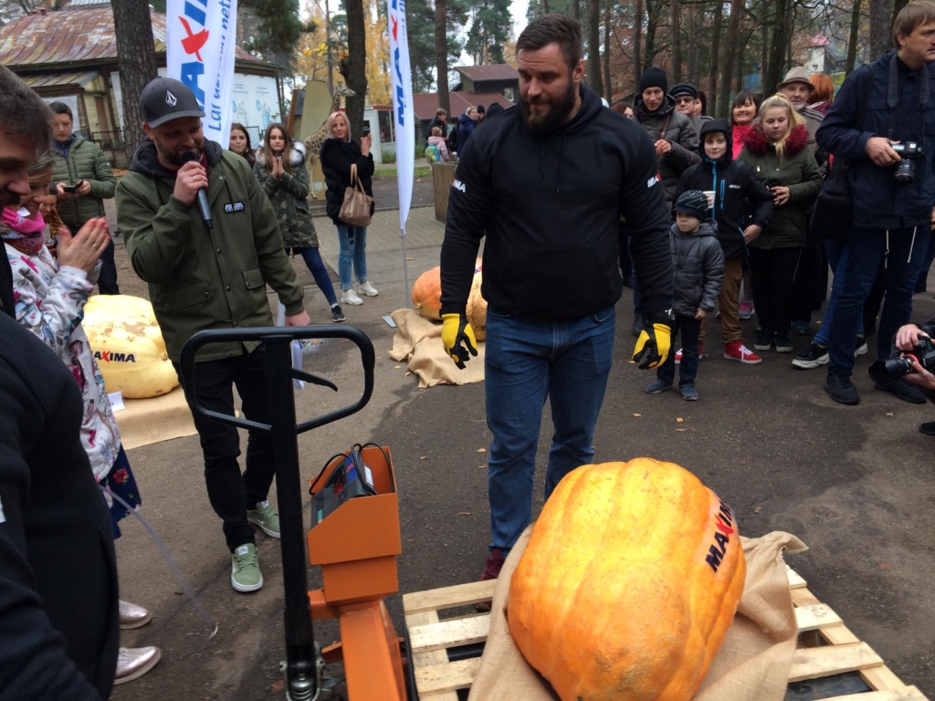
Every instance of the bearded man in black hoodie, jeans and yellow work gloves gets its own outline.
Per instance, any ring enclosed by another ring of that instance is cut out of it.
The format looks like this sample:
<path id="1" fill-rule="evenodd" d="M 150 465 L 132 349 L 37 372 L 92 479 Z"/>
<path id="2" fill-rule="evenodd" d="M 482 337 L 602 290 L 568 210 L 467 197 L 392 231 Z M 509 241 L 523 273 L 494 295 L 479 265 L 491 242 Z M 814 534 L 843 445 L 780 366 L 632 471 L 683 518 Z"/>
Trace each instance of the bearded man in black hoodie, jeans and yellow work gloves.
<path id="1" fill-rule="evenodd" d="M 477 130 L 452 185 L 441 248 L 442 341 L 458 365 L 474 350 L 465 308 L 486 236 L 485 392 L 493 434 L 489 495 L 493 542 L 483 579 L 532 516 L 542 406 L 554 436 L 546 497 L 592 462 L 630 252 L 643 286 L 640 367 L 669 353 L 672 262 L 669 210 L 653 144 L 640 125 L 603 109 L 583 85 L 581 25 L 548 14 L 516 44 L 520 101 Z M 626 220 L 626 229 L 620 225 Z"/>

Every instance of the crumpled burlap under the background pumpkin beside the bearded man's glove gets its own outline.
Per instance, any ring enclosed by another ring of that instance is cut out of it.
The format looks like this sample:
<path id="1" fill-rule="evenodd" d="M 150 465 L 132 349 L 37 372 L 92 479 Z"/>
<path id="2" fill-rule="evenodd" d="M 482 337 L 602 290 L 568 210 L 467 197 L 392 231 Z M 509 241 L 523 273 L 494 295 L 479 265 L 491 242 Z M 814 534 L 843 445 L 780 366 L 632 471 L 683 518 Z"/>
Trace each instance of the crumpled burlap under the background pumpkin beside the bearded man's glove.
<path id="1" fill-rule="evenodd" d="M 409 362 L 410 372 L 419 376 L 420 389 L 483 381 L 484 344 L 478 343 L 477 357 L 471 356 L 460 370 L 441 345 L 441 322 L 425 319 L 414 309 L 396 309 L 390 317 L 396 323 L 390 357 Z"/>

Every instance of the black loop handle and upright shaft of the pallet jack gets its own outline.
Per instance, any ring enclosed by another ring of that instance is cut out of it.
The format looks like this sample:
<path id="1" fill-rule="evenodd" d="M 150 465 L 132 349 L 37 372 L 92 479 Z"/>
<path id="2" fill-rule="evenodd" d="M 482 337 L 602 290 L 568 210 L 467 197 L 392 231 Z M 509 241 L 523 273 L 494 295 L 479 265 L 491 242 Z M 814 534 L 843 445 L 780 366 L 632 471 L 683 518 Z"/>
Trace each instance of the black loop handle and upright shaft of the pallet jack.
<path id="1" fill-rule="evenodd" d="M 360 398 L 307 422 L 295 422 L 293 379 L 334 391 L 338 388 L 326 379 L 292 366 L 293 340 L 306 338 L 344 338 L 360 350 L 364 365 L 364 391 Z M 259 341 L 267 350 L 270 422 L 254 422 L 229 416 L 203 407 L 194 393 L 195 354 L 211 343 Z M 308 574 L 305 555 L 305 527 L 302 522 L 303 490 L 298 466 L 298 435 L 326 423 L 351 416 L 367 406 L 373 394 L 376 355 L 367 335 L 352 326 L 266 326 L 245 329 L 209 329 L 199 331 L 181 349 L 182 386 L 192 411 L 212 421 L 267 433 L 272 438 L 273 462 L 276 464 L 276 492 L 280 511 L 280 544 L 284 591 L 283 619 L 286 640 L 286 696 L 291 701 L 311 701 L 318 694 L 320 670 L 316 666 L 314 637 L 309 606 Z"/>

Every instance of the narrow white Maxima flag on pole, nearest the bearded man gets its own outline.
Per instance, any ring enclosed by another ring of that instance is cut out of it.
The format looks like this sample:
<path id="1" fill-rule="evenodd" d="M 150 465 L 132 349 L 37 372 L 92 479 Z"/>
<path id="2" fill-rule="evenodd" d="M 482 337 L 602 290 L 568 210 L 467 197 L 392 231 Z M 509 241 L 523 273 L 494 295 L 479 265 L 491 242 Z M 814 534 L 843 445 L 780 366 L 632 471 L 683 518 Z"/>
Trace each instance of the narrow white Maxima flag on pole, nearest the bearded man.
<path id="1" fill-rule="evenodd" d="M 399 228 L 406 235 L 415 170 L 415 120 L 412 114 L 412 71 L 405 0 L 386 0 L 389 10 L 390 65 L 393 74 L 393 119 L 396 122 L 396 179 L 399 183 Z"/>

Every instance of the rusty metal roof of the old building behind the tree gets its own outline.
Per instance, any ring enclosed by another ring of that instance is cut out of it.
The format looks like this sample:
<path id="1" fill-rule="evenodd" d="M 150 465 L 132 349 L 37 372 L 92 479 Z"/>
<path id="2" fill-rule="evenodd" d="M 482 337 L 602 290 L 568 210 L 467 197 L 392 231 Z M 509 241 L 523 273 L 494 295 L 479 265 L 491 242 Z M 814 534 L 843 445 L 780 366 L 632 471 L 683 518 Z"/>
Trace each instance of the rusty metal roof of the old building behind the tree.
<path id="1" fill-rule="evenodd" d="M 156 53 L 165 53 L 165 15 L 151 10 Z M 239 61 L 259 62 L 237 47 Z M 117 37 L 110 4 L 38 12 L 0 27 L 0 64 L 38 68 L 88 61 L 117 61 Z"/>

